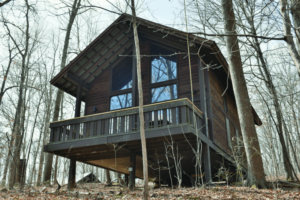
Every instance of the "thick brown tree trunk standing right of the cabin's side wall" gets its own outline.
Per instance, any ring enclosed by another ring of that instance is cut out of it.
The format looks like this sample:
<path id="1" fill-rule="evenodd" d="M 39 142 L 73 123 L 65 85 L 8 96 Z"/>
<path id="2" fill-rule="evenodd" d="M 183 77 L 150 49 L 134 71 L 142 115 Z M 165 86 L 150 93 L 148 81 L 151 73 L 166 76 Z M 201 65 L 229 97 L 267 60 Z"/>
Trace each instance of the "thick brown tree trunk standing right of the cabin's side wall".
<path id="1" fill-rule="evenodd" d="M 225 33 L 237 34 L 232 0 L 221 0 L 221 5 Z M 229 72 L 236 97 L 237 111 L 247 155 L 247 185 L 267 188 L 237 37 L 227 36 L 225 37 L 225 41 L 228 52 Z"/>

